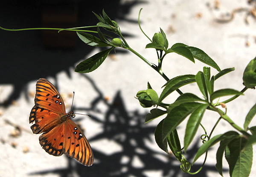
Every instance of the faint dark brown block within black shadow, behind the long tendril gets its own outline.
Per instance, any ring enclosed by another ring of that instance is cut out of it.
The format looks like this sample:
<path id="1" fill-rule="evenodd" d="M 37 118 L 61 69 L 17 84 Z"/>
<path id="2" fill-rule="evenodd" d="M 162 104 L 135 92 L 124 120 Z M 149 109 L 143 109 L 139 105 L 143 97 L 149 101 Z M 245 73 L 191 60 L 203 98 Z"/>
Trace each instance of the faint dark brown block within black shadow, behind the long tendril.
<path id="1" fill-rule="evenodd" d="M 75 3 L 45 4 L 41 13 L 44 28 L 73 28 L 78 23 L 78 8 Z M 43 43 L 46 48 L 75 48 L 76 32 L 43 30 Z"/>

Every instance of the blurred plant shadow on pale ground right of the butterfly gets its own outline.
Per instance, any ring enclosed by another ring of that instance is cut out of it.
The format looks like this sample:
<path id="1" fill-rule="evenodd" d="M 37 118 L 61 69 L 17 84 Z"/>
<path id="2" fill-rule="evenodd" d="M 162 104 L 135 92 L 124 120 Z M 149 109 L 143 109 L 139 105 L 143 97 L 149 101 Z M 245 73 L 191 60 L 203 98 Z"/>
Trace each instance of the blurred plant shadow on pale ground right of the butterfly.
<path id="1" fill-rule="evenodd" d="M 177 160 L 174 156 L 156 151 L 146 144 L 146 141 L 155 143 L 154 139 L 151 138 L 152 134 L 154 134 L 155 126 L 144 124 L 145 114 L 140 114 L 136 110 L 128 112 L 120 92 L 116 93 L 112 103 L 106 102 L 94 81 L 87 76 L 85 77 L 95 88 L 98 97 L 91 102 L 90 107 L 76 107 L 75 111 L 90 110 L 90 112 L 102 113 L 101 110 L 95 109 L 102 102 L 108 107 L 103 120 L 96 116 L 91 116 L 90 119 L 102 125 L 103 131 L 89 139 L 89 142 L 102 139 L 114 140 L 122 147 L 122 151 L 106 155 L 104 153 L 106 147 L 101 147 L 101 151 L 93 149 L 96 162 L 91 167 L 81 165 L 76 160 L 67 157 L 67 168 L 49 171 L 38 170 L 32 173 L 33 175 L 40 176 L 53 173 L 59 174 L 61 177 L 146 177 L 145 171 L 162 171 L 161 176 L 191 177 L 191 175 L 181 171 L 180 164 L 176 163 Z M 187 159 L 190 162 L 195 157 L 199 143 L 195 143 L 194 147 L 187 151 L 187 154 L 189 154 Z M 135 158 L 139 159 L 142 165 L 134 165 Z M 197 171 L 200 167 L 201 164 L 196 164 L 192 167 L 192 171 Z M 217 172 L 215 164 L 205 165 L 203 170 L 199 174 L 193 175 L 193 177 L 209 177 L 207 175 L 209 171 Z M 227 171 L 227 169 L 224 169 L 224 171 Z"/>

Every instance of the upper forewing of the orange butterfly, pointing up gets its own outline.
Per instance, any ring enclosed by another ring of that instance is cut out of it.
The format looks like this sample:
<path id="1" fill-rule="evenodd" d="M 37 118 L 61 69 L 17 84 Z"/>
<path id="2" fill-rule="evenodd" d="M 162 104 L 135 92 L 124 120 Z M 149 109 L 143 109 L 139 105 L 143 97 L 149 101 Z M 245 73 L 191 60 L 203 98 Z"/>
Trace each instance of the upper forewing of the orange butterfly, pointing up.
<path id="1" fill-rule="evenodd" d="M 66 114 L 61 95 L 54 85 L 45 78 L 40 78 L 36 83 L 35 106 L 58 114 Z"/>

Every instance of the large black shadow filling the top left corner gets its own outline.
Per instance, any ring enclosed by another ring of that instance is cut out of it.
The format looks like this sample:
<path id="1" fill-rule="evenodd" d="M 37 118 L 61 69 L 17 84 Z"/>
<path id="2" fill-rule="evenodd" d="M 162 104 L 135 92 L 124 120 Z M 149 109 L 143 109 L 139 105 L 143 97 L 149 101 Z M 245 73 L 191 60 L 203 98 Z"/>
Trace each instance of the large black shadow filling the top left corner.
<path id="1" fill-rule="evenodd" d="M 92 11 L 102 14 L 102 9 L 105 9 L 112 20 L 135 23 L 137 19 L 126 19 L 125 15 L 134 5 L 140 3 L 146 2 L 4 0 L 0 2 L 0 26 L 7 29 L 92 26 L 98 23 Z M 58 33 L 57 30 L 10 32 L 0 29 L 0 84 L 14 86 L 12 95 L 0 105 L 8 106 L 12 100 L 17 99 L 31 80 L 47 76 L 55 77 L 63 70 L 69 73 L 69 68 L 85 59 L 92 49 L 93 47 L 79 40 L 76 32 Z M 116 52 L 122 51 L 116 50 Z"/>

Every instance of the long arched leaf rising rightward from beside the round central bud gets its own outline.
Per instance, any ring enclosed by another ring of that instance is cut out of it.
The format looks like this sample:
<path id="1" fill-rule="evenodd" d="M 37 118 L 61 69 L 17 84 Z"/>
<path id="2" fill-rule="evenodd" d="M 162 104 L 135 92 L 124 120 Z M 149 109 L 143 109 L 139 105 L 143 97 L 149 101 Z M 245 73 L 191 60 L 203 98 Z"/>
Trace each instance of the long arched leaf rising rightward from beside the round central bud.
<path id="1" fill-rule="evenodd" d="M 158 99 L 158 104 L 160 104 L 163 99 L 166 98 L 170 93 L 173 91 L 177 90 L 178 88 L 195 82 L 195 75 L 180 75 L 175 78 L 170 79 L 166 84 L 164 84 L 163 87 L 163 92 L 161 93 L 159 99 Z"/>

